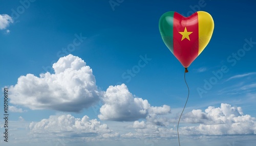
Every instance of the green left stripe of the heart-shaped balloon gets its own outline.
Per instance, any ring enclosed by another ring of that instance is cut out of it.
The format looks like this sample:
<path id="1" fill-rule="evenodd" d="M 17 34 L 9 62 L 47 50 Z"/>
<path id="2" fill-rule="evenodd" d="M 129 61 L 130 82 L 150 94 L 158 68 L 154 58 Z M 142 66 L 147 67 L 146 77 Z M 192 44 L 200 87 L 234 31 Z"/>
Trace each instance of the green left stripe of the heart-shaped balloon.
<path id="1" fill-rule="evenodd" d="M 173 49 L 173 23 L 174 23 L 174 13 L 166 12 L 159 20 L 159 30 L 165 45 L 169 48 L 170 52 L 174 54 Z M 161 24 L 161 25 L 160 25 Z"/>

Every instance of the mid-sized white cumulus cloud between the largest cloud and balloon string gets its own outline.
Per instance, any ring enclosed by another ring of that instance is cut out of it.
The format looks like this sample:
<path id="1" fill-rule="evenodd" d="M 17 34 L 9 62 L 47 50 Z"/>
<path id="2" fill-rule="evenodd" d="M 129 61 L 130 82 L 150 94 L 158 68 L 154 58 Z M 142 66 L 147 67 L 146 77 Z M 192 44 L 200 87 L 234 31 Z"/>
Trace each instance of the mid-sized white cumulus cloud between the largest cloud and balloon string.
<path id="1" fill-rule="evenodd" d="M 170 107 L 152 107 L 147 100 L 137 98 L 125 84 L 109 86 L 103 95 L 103 105 L 98 117 L 101 120 L 135 121 L 149 114 L 170 113 Z"/>

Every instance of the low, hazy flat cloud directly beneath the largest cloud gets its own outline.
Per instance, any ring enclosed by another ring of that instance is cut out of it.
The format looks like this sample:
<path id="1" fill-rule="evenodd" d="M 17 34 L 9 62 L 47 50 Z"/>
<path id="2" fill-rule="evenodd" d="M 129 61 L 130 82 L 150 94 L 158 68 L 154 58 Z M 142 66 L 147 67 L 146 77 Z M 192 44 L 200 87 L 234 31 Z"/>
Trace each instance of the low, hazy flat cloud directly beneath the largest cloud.
<path id="1" fill-rule="evenodd" d="M 51 115 L 29 125 L 31 134 L 44 134 L 68 137 L 118 137 L 119 134 L 109 129 L 108 125 L 101 124 L 97 119 L 90 119 L 87 115 L 75 118 L 73 115 Z"/>

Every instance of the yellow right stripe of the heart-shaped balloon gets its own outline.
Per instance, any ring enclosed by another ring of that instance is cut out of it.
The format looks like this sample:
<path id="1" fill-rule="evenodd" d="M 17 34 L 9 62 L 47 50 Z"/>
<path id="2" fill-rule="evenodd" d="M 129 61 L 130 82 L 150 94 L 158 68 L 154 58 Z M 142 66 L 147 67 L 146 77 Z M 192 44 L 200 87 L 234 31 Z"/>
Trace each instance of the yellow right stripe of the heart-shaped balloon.
<path id="1" fill-rule="evenodd" d="M 198 11 L 198 31 L 199 31 L 199 48 L 198 55 L 204 50 L 209 43 L 212 33 L 214 32 L 214 19 L 204 11 Z"/>

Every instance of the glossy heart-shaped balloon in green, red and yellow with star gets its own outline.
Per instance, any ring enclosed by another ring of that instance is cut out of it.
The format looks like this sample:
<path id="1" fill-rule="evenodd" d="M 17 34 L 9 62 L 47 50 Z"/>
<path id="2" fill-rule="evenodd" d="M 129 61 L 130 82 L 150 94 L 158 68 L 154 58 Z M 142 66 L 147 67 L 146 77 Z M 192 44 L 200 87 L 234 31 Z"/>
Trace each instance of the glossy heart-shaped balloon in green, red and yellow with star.
<path id="1" fill-rule="evenodd" d="M 189 17 L 170 11 L 161 16 L 159 30 L 170 52 L 187 68 L 209 43 L 214 20 L 204 11 Z"/>

